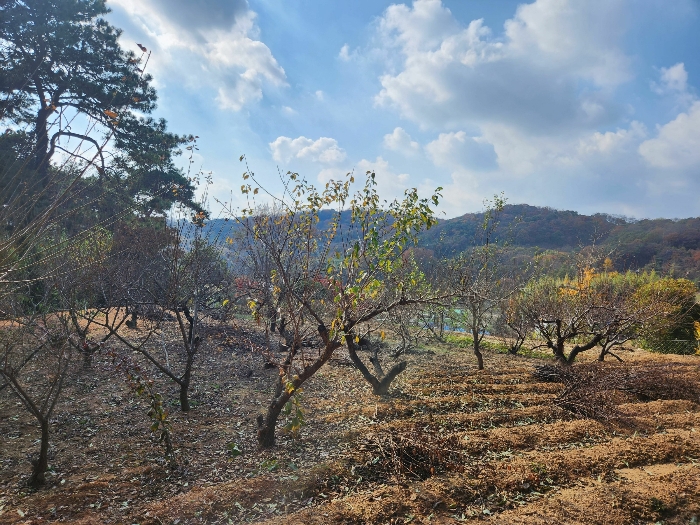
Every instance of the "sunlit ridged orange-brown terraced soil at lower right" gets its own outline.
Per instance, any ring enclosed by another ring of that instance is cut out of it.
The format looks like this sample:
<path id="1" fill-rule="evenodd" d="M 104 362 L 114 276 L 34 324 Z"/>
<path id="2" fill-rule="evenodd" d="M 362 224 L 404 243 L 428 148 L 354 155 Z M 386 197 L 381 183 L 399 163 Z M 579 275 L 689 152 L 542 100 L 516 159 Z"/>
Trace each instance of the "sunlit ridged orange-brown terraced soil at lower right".
<path id="1" fill-rule="evenodd" d="M 650 365 L 663 360 L 644 358 Z M 418 416 L 377 425 L 361 440 L 366 453 L 353 470 L 375 484 L 266 523 L 697 522 L 697 403 L 628 403 L 619 407 L 631 418 L 625 427 L 575 420 L 547 406 L 542 392 L 552 385 L 527 372 L 521 366 L 471 377 L 416 374 L 404 392 L 420 401 L 434 388 L 436 402 L 421 405 Z M 445 411 L 439 393 L 446 385 L 462 392 L 465 405 Z M 532 396 L 547 409 L 528 407 Z M 469 406 L 471 400 L 477 404 Z"/>

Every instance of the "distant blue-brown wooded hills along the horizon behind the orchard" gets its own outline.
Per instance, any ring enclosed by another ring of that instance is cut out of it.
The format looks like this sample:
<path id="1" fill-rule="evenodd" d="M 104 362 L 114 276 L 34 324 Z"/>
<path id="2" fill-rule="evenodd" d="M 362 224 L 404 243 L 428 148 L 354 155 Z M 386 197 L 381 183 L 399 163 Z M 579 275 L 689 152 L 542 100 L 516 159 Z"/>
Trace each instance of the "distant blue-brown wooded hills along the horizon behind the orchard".
<path id="1" fill-rule="evenodd" d="M 332 214 L 330 210 L 321 212 L 319 228 L 329 224 Z M 344 213 L 341 225 L 347 226 L 349 218 Z M 440 220 L 421 233 L 419 246 L 436 257 L 457 255 L 479 242 L 477 232 L 483 220 L 483 213 Z M 211 220 L 205 226 L 212 241 L 224 241 L 239 228 L 236 221 L 223 219 Z M 700 218 L 632 220 L 509 204 L 500 216 L 494 237 L 500 243 L 507 242 L 520 255 L 536 249 L 564 254 L 595 243 L 613 251 L 617 270 L 653 269 L 700 282 Z"/>

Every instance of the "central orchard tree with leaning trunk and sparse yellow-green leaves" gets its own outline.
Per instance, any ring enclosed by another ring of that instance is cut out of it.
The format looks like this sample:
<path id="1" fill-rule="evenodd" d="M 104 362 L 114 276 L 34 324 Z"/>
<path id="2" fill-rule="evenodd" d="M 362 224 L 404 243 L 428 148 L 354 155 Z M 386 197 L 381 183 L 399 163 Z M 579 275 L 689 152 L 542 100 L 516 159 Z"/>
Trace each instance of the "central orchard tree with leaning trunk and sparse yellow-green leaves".
<path id="1" fill-rule="evenodd" d="M 260 188 L 250 170 L 244 179 L 247 207 L 227 211 L 244 231 L 239 242 L 259 245 L 269 257 L 270 293 L 279 305 L 282 325 L 278 330 L 286 332 L 288 341 L 272 400 L 258 417 L 258 444 L 269 447 L 275 443 L 282 410 L 343 344 L 348 344 L 353 362 L 378 392 L 381 381 L 355 351 L 359 330 L 386 312 L 434 299 L 418 275 L 407 271 L 403 255 L 421 230 L 435 224 L 431 206 L 438 203 L 439 189 L 430 199 L 407 190 L 402 200 L 383 208 L 374 173 L 367 173 L 364 187 L 354 194 L 350 175 L 318 190 L 296 173 L 288 173 L 283 196 L 270 194 L 276 203 L 270 208 L 256 204 Z M 332 209 L 333 216 L 319 229 L 324 208 Z M 270 300 L 268 292 L 260 286 L 255 290 L 249 306 L 255 316 L 266 317 L 267 310 L 259 309 Z"/>

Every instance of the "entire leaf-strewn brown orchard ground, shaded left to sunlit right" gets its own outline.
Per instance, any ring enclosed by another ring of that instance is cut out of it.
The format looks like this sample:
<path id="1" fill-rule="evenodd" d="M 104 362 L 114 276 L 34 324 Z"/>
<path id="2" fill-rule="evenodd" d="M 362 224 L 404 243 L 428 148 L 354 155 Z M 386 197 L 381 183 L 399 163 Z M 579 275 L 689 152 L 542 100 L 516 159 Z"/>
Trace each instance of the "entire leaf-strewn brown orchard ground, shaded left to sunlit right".
<path id="1" fill-rule="evenodd" d="M 305 386 L 300 436 L 279 432 L 274 449 L 258 451 L 255 417 L 277 370 L 236 342 L 235 332 L 206 340 L 189 413 L 157 378 L 175 464 L 149 432 L 145 401 L 99 354 L 69 381 L 51 421 L 47 485 L 30 490 L 39 431 L 0 392 L 0 523 L 700 520 L 700 399 L 628 396 L 617 407 L 624 420 L 586 419 L 556 406 L 562 384 L 534 378 L 542 361 L 487 353 L 479 372 L 446 345 L 408 355 L 391 394 L 377 398 L 341 350 Z M 608 366 L 700 366 L 695 356 L 623 357 Z"/>

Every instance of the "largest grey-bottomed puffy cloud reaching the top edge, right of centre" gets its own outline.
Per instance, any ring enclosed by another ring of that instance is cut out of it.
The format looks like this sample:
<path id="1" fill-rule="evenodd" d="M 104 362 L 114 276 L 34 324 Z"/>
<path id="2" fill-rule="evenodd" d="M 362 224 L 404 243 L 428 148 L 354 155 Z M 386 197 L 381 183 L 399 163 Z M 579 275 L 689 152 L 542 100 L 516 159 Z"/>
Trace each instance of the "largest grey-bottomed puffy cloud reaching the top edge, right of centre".
<path id="1" fill-rule="evenodd" d="M 482 20 L 459 26 L 439 0 L 391 6 L 380 37 L 402 60 L 388 64 L 376 103 L 423 127 L 594 128 L 617 114 L 609 91 L 631 76 L 620 12 L 621 0 L 537 0 L 493 38 Z"/>

